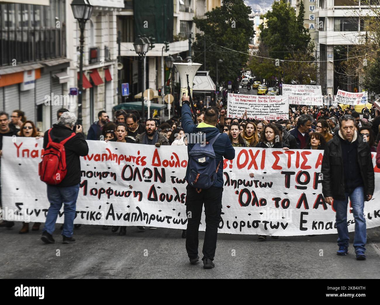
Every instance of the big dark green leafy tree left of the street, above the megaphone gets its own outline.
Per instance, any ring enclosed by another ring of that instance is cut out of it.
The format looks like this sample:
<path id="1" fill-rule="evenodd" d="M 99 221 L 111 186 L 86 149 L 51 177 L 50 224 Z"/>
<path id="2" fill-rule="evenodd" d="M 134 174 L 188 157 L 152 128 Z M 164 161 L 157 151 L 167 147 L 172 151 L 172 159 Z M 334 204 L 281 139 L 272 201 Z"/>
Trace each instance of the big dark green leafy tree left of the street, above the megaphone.
<path id="1" fill-rule="evenodd" d="M 204 64 L 204 42 L 206 42 L 206 70 L 210 71 L 213 79 L 216 78 L 216 63 L 218 64 L 219 83 L 236 79 L 239 71 L 248 60 L 248 44 L 253 37 L 253 23 L 249 20 L 251 8 L 244 4 L 244 0 L 224 0 L 223 6 L 214 8 L 205 13 L 203 19 L 194 18 L 196 27 L 202 33 L 196 34 L 192 45 L 193 62 Z M 233 49 L 239 52 L 223 49 Z M 205 69 L 205 67 L 201 67 Z"/>

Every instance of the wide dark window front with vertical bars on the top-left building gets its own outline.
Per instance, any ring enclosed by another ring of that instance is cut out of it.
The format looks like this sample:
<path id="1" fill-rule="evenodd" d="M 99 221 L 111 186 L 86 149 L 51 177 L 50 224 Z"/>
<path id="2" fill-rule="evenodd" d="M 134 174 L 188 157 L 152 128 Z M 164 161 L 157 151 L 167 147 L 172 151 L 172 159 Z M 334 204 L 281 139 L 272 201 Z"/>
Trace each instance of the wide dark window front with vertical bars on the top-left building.
<path id="1" fill-rule="evenodd" d="M 65 0 L 51 0 L 50 6 L 0 4 L 0 65 L 65 56 L 65 6 Z"/>

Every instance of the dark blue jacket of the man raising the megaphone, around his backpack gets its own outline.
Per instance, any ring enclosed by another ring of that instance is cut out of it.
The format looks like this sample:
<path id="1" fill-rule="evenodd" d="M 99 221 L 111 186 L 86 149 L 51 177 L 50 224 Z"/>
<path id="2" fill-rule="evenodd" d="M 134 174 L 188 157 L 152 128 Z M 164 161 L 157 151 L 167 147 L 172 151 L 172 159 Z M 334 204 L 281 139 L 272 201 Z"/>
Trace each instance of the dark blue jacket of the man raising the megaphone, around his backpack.
<path id="1" fill-rule="evenodd" d="M 220 133 L 219 129 L 217 129 L 214 126 L 207 125 L 205 123 L 200 123 L 199 125 L 194 125 L 194 122 L 192 120 L 190 107 L 187 104 L 184 104 L 182 106 L 182 116 L 181 116 L 181 123 L 182 128 L 184 129 L 185 133 L 188 135 L 192 135 L 194 133 L 203 132 L 203 135 L 206 137 L 206 141 L 209 141 L 211 138 L 215 137 L 218 133 Z M 195 143 L 190 143 L 191 138 L 187 140 L 187 152 L 192 150 Z M 216 155 L 215 161 L 216 166 L 218 166 L 219 162 L 219 168 L 217 172 L 217 179 L 215 180 L 215 183 L 213 186 L 215 187 L 223 187 L 223 157 L 228 160 L 232 160 L 235 157 L 235 149 L 231 145 L 230 138 L 228 138 L 228 135 L 226 133 L 222 133 L 217 140 L 215 141 L 214 145 L 212 145 L 214 148 L 214 152 Z M 187 165 L 186 169 L 186 181 L 188 181 L 189 178 L 189 166 Z"/>

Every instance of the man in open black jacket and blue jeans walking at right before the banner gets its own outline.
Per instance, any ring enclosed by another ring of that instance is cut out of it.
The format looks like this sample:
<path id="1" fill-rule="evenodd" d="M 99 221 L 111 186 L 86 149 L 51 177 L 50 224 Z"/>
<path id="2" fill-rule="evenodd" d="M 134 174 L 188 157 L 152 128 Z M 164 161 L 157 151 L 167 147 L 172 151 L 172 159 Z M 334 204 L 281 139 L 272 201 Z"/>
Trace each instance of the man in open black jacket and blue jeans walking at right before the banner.
<path id="1" fill-rule="evenodd" d="M 336 228 L 338 230 L 337 255 L 348 253 L 347 204 L 350 197 L 352 213 L 355 219 L 355 237 L 353 246 L 356 259 L 366 259 L 366 220 L 364 219 L 364 201 L 372 199 L 375 189 L 375 175 L 372 166 L 370 148 L 355 130 L 355 119 L 342 116 L 339 119 L 338 135 L 326 144 L 323 154 L 322 192 L 325 201 L 336 210 Z"/>

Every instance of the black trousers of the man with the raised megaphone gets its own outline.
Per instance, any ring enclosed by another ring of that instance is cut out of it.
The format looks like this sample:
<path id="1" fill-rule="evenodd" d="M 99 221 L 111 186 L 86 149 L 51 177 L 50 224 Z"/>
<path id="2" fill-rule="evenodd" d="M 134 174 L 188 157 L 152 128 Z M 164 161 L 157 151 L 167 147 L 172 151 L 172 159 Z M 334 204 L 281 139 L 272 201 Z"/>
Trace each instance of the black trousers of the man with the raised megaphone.
<path id="1" fill-rule="evenodd" d="M 190 259 L 198 256 L 198 231 L 202 207 L 206 215 L 206 232 L 203 242 L 203 258 L 214 260 L 220 214 L 222 213 L 223 187 L 211 187 L 200 193 L 192 186 L 186 187 L 186 251 Z"/>

